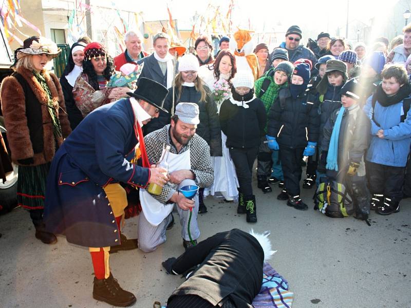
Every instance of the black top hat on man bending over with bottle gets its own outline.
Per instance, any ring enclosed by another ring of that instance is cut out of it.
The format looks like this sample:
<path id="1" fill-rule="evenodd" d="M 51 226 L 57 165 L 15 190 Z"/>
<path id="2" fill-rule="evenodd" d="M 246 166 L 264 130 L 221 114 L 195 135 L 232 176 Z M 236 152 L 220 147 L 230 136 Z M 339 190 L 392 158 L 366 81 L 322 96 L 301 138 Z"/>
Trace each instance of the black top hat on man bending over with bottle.
<path id="1" fill-rule="evenodd" d="M 169 90 L 162 84 L 145 77 L 138 80 L 137 89 L 134 92 L 127 92 L 128 95 L 169 113 L 163 108 L 163 102 L 168 93 Z"/>

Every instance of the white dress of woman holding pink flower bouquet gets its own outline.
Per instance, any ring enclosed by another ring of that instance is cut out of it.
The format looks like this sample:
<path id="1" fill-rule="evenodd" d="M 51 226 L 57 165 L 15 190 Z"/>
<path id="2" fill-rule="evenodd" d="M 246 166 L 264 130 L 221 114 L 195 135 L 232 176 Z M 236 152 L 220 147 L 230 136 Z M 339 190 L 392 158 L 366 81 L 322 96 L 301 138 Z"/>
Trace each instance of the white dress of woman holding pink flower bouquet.
<path id="1" fill-rule="evenodd" d="M 211 65 L 212 66 L 212 65 Z M 210 70 L 208 65 L 203 65 L 198 71 L 201 80 L 213 91 L 213 86 L 220 80 L 227 80 L 229 75 L 220 75 L 218 81 L 215 80 L 214 70 Z M 220 112 L 222 101 L 215 102 L 217 110 Z M 204 197 L 214 196 L 220 192 L 226 200 L 236 199 L 238 196 L 238 179 L 235 173 L 234 163 L 231 159 L 230 152 L 226 146 L 227 136 L 221 131 L 222 156 L 211 157 L 211 163 L 214 169 L 214 183 L 210 188 L 204 189 Z"/>

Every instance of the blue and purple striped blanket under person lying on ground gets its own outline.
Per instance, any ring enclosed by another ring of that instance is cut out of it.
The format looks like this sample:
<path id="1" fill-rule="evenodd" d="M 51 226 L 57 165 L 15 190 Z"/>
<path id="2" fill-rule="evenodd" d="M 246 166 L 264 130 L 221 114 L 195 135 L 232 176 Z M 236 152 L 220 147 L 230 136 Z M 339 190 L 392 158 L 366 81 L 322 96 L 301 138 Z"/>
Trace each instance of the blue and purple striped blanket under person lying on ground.
<path id="1" fill-rule="evenodd" d="M 268 263 L 264 263 L 263 273 L 263 285 L 254 297 L 253 306 L 255 308 L 291 308 L 294 294 L 288 290 L 287 280 Z"/>

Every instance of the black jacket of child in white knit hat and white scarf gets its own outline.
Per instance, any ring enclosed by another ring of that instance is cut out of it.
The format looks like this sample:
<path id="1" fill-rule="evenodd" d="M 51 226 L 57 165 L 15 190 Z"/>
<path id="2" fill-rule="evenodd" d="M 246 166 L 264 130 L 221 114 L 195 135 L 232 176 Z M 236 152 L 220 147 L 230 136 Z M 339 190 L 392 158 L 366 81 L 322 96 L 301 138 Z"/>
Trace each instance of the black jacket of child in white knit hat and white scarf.
<path id="1" fill-rule="evenodd" d="M 247 103 L 249 108 L 234 105 L 225 100 L 220 108 L 220 125 L 227 135 L 227 147 L 258 147 L 260 138 L 265 135 L 267 112 L 263 102 L 254 98 Z"/>

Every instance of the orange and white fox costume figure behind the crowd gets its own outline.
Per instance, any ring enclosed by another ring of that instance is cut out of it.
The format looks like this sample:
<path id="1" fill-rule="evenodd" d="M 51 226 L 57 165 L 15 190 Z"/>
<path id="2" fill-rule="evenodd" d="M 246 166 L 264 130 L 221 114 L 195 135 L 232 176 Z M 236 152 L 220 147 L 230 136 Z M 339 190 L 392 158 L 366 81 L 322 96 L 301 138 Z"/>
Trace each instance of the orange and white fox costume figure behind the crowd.
<path id="1" fill-rule="evenodd" d="M 258 60 L 251 41 L 250 33 L 254 31 L 238 29 L 234 33 L 234 40 L 230 40 L 230 49 L 234 52 L 237 63 L 237 71 L 250 70 L 254 76 L 254 81 L 258 79 Z"/>

